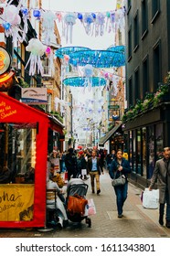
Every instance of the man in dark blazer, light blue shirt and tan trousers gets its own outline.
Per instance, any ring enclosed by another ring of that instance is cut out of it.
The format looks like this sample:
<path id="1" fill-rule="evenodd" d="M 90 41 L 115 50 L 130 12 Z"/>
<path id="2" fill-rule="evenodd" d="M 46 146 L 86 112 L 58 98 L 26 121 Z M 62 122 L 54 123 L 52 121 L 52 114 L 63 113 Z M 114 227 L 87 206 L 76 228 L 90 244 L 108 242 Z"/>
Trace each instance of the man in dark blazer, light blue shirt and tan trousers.
<path id="1" fill-rule="evenodd" d="M 96 189 L 97 195 L 101 193 L 100 187 L 100 175 L 103 173 L 101 159 L 96 156 L 96 151 L 93 150 L 91 153 L 91 157 L 88 159 L 88 173 L 90 174 L 90 185 L 92 189 L 92 193 L 95 193 L 94 182 L 96 180 Z"/>

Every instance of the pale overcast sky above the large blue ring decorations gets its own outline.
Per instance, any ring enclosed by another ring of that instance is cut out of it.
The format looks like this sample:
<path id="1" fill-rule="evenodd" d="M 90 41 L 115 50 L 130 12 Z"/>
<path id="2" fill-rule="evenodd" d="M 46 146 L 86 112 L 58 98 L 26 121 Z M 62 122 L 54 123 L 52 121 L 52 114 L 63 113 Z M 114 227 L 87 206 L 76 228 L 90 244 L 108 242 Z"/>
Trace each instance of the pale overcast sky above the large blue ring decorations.
<path id="1" fill-rule="evenodd" d="M 107 12 L 115 10 L 116 0 L 43 0 L 43 7 L 53 11 L 60 12 Z M 88 36 L 84 27 L 77 19 L 76 25 L 72 30 L 72 44 L 66 42 L 65 37 L 62 37 L 61 23 L 58 24 L 58 29 L 61 36 L 62 47 L 66 46 L 81 46 L 93 49 L 106 49 L 114 44 L 114 33 L 104 31 L 104 35 L 98 37 Z"/>

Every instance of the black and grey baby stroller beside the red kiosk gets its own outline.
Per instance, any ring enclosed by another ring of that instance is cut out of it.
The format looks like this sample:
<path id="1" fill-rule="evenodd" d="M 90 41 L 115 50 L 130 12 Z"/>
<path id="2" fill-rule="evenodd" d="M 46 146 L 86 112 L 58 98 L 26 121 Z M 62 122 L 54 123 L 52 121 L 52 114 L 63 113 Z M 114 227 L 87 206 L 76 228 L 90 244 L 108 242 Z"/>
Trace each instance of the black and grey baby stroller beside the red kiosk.
<path id="1" fill-rule="evenodd" d="M 69 196 L 74 196 L 75 194 L 78 194 L 80 197 L 86 198 L 86 194 L 88 191 L 88 185 L 84 183 L 80 178 L 72 178 L 69 180 L 68 186 L 67 186 L 67 198 L 66 198 L 66 204 L 67 204 L 67 214 L 68 219 L 72 222 L 81 222 L 83 219 L 85 219 L 86 224 L 88 224 L 89 228 L 91 227 L 91 219 L 86 215 L 86 212 L 83 216 L 81 216 L 78 213 L 70 214 L 68 211 L 68 200 Z"/>

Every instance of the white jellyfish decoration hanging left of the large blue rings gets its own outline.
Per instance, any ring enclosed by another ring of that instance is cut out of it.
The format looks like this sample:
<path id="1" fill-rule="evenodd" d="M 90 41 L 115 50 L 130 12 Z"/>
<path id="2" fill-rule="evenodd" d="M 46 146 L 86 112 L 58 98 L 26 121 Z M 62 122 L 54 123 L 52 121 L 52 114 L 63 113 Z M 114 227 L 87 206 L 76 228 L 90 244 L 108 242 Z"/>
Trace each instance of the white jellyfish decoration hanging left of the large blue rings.
<path id="1" fill-rule="evenodd" d="M 30 52 L 29 59 L 27 60 L 27 65 L 30 64 L 29 76 L 34 76 L 36 71 L 43 75 L 44 69 L 40 57 L 44 55 L 46 48 L 47 46 L 44 46 L 37 38 L 29 40 L 26 48 Z M 27 65 L 25 69 L 27 69 Z"/>

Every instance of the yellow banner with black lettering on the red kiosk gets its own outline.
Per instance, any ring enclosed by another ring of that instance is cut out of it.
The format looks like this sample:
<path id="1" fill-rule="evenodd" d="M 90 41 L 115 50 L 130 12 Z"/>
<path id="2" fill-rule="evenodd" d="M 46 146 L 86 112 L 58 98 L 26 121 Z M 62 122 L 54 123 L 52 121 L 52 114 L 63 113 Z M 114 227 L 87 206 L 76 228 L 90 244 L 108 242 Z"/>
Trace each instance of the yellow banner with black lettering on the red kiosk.
<path id="1" fill-rule="evenodd" d="M 33 208 L 34 184 L 0 185 L 0 221 L 30 221 Z"/>

